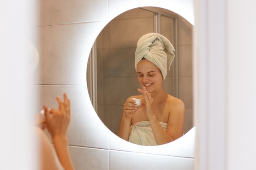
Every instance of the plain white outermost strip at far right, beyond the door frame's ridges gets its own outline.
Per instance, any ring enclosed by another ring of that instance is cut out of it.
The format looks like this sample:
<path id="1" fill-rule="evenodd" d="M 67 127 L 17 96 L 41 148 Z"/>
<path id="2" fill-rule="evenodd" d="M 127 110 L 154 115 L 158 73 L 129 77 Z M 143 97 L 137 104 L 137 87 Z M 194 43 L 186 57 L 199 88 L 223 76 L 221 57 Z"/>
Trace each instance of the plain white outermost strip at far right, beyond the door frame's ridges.
<path id="1" fill-rule="evenodd" d="M 256 169 L 255 6 L 249 0 L 226 4 L 227 170 Z"/>

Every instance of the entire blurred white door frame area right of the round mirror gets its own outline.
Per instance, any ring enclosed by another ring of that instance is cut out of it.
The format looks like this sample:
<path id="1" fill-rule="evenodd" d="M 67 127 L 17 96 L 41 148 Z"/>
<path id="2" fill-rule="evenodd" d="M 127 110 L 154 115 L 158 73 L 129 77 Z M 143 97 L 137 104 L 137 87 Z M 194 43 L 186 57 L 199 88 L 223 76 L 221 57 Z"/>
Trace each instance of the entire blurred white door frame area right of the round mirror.
<path id="1" fill-rule="evenodd" d="M 196 170 L 256 169 L 255 1 L 195 1 Z"/>

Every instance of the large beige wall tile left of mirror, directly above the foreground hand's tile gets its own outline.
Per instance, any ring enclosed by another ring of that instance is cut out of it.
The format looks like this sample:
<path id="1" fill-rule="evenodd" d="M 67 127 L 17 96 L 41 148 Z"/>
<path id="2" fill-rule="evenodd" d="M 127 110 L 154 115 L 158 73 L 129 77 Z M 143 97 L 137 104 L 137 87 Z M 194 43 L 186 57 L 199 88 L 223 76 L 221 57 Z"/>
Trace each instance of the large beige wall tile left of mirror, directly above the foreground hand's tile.
<path id="1" fill-rule="evenodd" d="M 106 22 L 92 22 L 39 27 L 40 59 L 36 71 L 40 79 L 35 84 L 86 84 L 88 56 L 105 25 Z"/>

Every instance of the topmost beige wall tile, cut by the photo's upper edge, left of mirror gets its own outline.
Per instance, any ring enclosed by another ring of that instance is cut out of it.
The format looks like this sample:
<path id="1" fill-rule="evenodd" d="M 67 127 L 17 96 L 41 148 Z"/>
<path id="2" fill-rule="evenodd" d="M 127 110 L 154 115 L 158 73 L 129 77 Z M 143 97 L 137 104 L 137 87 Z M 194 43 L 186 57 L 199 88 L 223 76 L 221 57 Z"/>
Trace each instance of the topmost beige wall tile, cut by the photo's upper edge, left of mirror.
<path id="1" fill-rule="evenodd" d="M 108 0 L 40 0 L 39 26 L 102 21 L 107 16 Z"/>

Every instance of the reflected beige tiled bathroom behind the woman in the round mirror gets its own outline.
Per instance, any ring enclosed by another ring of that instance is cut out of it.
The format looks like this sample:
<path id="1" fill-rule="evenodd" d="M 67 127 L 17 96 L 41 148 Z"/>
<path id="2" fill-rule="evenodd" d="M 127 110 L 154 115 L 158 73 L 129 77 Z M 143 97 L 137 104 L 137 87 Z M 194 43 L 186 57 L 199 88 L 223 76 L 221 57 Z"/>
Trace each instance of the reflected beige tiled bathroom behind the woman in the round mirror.
<path id="1" fill-rule="evenodd" d="M 124 103 L 140 95 L 134 67 L 139 38 L 157 32 L 170 40 L 175 59 L 163 88 L 185 104 L 185 134 L 193 127 L 192 25 L 166 9 L 144 7 L 126 11 L 109 22 L 99 34 L 88 61 L 88 91 L 101 121 L 117 135 Z"/>

